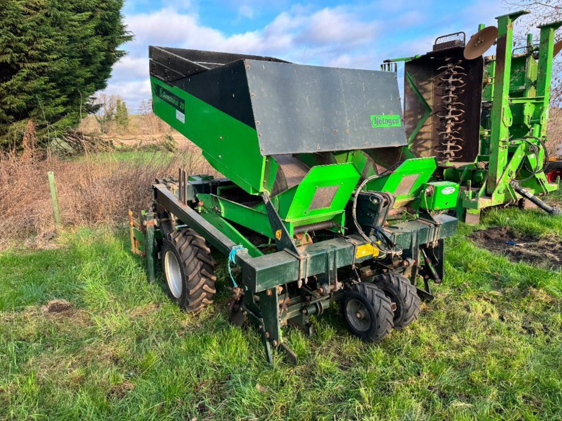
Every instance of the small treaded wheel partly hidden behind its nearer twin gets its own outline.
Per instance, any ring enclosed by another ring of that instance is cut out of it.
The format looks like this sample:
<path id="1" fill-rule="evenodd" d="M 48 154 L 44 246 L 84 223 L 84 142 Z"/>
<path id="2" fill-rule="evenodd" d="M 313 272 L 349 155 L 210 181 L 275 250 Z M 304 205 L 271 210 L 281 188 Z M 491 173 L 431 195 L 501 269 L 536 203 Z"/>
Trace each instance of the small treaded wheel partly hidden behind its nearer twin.
<path id="1" fill-rule="evenodd" d="M 373 283 L 392 303 L 396 303 L 393 318 L 395 329 L 403 329 L 418 318 L 422 300 L 416 287 L 406 277 L 397 273 L 384 273 L 375 277 Z"/>

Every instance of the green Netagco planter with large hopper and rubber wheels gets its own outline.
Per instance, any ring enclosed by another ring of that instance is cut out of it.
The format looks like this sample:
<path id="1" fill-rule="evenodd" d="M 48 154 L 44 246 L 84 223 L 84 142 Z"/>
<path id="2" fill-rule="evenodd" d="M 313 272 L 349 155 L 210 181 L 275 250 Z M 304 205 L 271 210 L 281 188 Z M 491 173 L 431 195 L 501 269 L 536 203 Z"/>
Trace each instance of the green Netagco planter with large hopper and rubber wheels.
<path id="1" fill-rule="evenodd" d="M 248 319 L 266 355 L 296 361 L 287 324 L 341 303 L 349 330 L 382 340 L 404 328 L 443 277 L 456 181 L 409 150 L 392 72 L 150 47 L 153 109 L 226 178 L 157 179 L 153 207 L 130 214 L 148 278 L 161 262 L 188 312 L 216 294 L 211 250 L 228 259 L 230 321 Z M 418 281 L 420 288 L 418 288 Z"/>

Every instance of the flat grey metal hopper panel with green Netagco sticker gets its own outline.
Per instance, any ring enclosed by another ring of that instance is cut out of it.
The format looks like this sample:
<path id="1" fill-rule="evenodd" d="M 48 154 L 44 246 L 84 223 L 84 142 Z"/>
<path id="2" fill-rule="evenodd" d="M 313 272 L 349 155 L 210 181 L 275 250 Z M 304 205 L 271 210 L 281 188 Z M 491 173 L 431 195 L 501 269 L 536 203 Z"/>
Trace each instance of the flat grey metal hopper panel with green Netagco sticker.
<path id="1" fill-rule="evenodd" d="M 244 62 L 262 155 L 407 145 L 394 72 Z"/>

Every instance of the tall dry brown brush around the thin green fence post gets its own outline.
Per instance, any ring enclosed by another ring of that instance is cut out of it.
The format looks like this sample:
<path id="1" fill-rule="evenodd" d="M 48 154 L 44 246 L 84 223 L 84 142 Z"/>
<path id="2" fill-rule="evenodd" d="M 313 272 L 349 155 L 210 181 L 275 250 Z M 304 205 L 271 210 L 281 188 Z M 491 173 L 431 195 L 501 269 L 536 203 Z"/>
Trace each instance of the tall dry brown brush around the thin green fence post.
<path id="1" fill-rule="evenodd" d="M 0 155 L 0 245 L 52 236 L 55 219 L 47 172 L 55 172 L 64 225 L 120 223 L 128 209 L 148 209 L 156 177 L 216 171 L 201 150 L 187 143 L 173 154 L 138 152 L 132 159 L 119 154 L 87 153 L 78 159 Z"/>

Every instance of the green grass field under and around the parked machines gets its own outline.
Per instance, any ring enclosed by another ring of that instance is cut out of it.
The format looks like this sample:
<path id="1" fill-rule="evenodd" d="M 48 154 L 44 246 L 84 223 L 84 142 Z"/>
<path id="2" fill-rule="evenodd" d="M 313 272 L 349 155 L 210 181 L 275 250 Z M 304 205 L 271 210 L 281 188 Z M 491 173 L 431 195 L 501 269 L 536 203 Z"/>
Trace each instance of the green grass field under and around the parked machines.
<path id="1" fill-rule="evenodd" d="M 562 419 L 562 273 L 478 248 L 486 226 L 562 235 L 562 218 L 514 208 L 461 225 L 416 323 L 367 345 L 333 304 L 315 337 L 288 330 L 296 367 L 229 325 L 225 276 L 214 305 L 180 312 L 125 228 L 4 250 L 0 419 Z"/>

